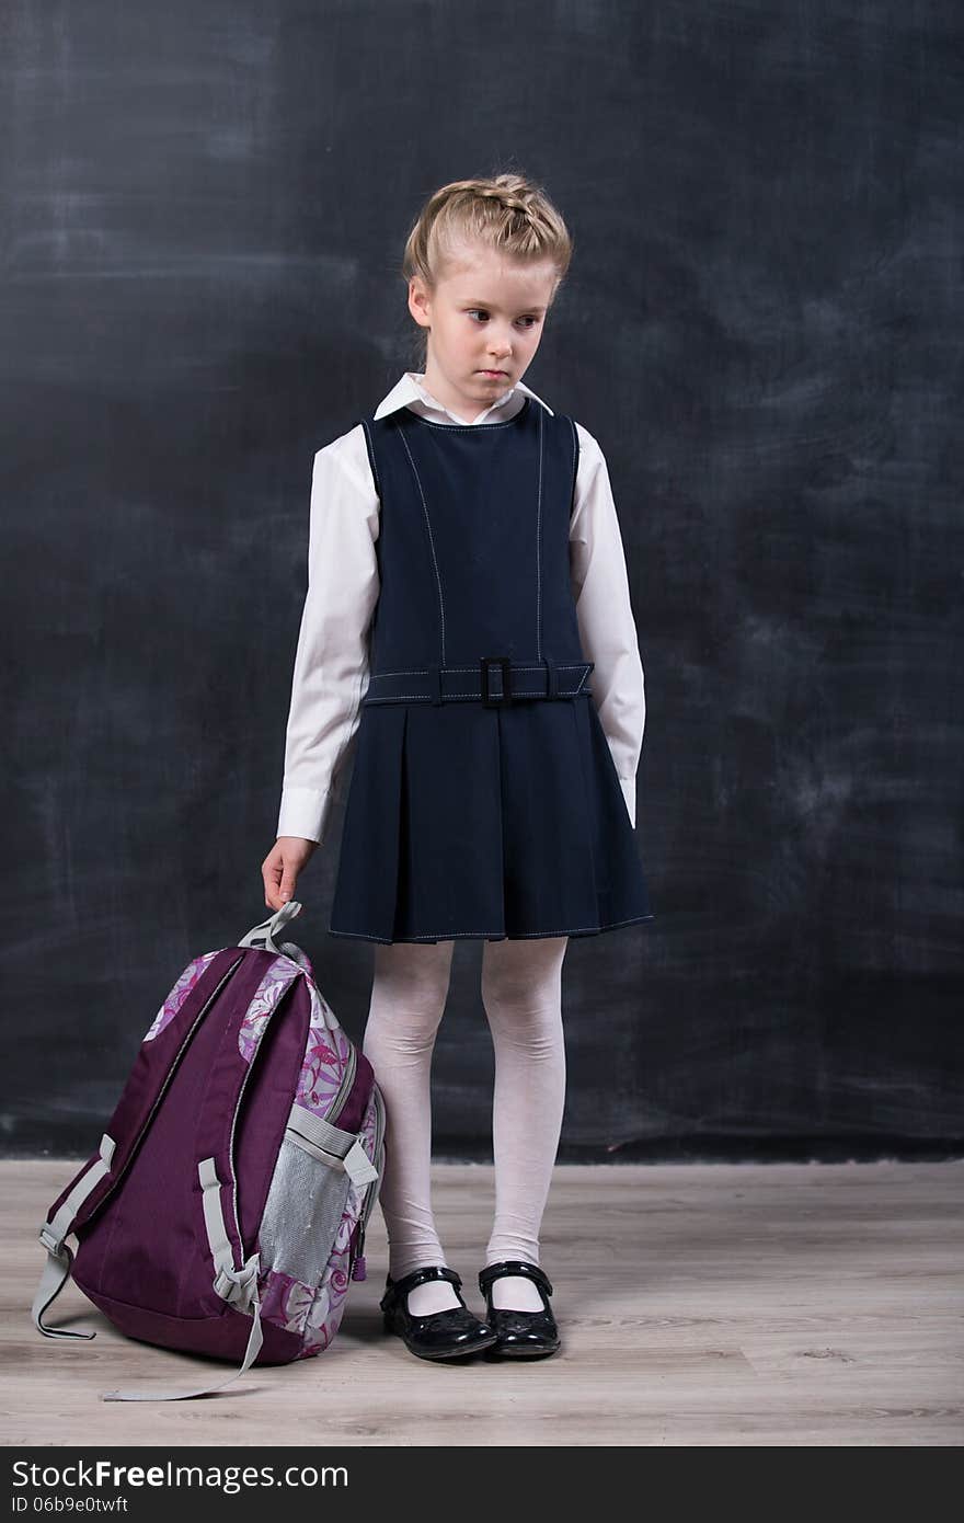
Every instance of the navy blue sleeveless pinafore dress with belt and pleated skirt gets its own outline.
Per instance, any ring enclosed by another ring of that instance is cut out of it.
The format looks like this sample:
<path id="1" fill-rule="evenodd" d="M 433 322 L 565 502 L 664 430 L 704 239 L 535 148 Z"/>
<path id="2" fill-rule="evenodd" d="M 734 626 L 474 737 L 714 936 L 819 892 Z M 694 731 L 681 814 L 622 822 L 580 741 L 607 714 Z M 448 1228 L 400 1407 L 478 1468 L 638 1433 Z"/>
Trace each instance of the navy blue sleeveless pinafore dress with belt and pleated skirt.
<path id="1" fill-rule="evenodd" d="M 361 419 L 381 591 L 329 931 L 582 937 L 653 920 L 570 582 L 579 436 Z"/>

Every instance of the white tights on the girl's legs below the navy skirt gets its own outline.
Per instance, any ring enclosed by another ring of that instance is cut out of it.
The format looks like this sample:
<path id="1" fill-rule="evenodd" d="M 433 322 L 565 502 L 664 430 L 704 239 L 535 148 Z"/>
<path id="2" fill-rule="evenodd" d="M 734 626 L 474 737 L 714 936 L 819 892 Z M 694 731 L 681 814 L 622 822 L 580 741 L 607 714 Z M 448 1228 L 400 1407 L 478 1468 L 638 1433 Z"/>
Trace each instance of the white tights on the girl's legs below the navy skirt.
<path id="1" fill-rule="evenodd" d="M 565 1046 L 562 963 L 568 937 L 486 941 L 481 998 L 495 1051 L 492 1148 L 495 1221 L 486 1264 L 539 1263 L 539 1226 L 562 1130 Z M 379 1205 L 388 1273 L 401 1279 L 448 1263 L 431 1208 L 431 1060 L 449 988 L 452 941 L 379 943 L 362 1051 L 385 1098 L 385 1173 Z M 542 1310 L 521 1276 L 493 1284 L 493 1305 Z M 410 1293 L 414 1316 L 457 1307 L 454 1285 Z"/>

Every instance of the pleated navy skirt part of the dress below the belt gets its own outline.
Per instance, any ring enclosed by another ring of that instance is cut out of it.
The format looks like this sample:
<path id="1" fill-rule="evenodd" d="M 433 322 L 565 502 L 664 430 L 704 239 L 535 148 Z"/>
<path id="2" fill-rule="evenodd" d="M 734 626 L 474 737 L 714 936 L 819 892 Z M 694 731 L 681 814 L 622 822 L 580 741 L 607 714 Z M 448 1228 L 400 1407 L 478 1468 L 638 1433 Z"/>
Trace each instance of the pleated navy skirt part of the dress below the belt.
<path id="1" fill-rule="evenodd" d="M 332 935 L 503 941 L 653 918 L 589 696 L 362 705 Z"/>

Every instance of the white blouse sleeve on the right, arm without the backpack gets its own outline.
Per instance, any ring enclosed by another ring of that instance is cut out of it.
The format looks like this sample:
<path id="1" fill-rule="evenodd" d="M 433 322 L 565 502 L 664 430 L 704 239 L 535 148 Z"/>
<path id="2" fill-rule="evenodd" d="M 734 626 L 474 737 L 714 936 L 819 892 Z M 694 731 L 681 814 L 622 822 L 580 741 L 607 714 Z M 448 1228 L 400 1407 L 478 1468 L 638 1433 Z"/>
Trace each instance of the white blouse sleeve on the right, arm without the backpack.
<path id="1" fill-rule="evenodd" d="M 629 595 L 623 536 L 605 455 L 579 428 L 579 469 L 570 521 L 570 568 L 579 634 L 599 717 L 635 829 L 637 768 L 646 728 L 646 688 Z"/>

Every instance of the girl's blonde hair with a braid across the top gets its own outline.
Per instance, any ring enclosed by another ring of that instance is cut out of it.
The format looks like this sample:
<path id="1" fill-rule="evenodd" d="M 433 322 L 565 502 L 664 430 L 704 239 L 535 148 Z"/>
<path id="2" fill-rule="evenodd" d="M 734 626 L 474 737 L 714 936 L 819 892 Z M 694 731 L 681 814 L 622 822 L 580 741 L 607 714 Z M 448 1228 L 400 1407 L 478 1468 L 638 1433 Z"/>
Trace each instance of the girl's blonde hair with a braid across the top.
<path id="1" fill-rule="evenodd" d="M 521 263 L 551 262 L 556 283 L 551 302 L 573 259 L 573 239 L 542 186 L 525 175 L 500 174 L 481 180 L 452 180 L 428 198 L 405 242 L 405 285 L 420 276 L 436 289 L 446 260 L 457 257 L 460 244 L 483 244 Z M 428 334 L 417 329 L 416 346 L 425 369 Z"/>

